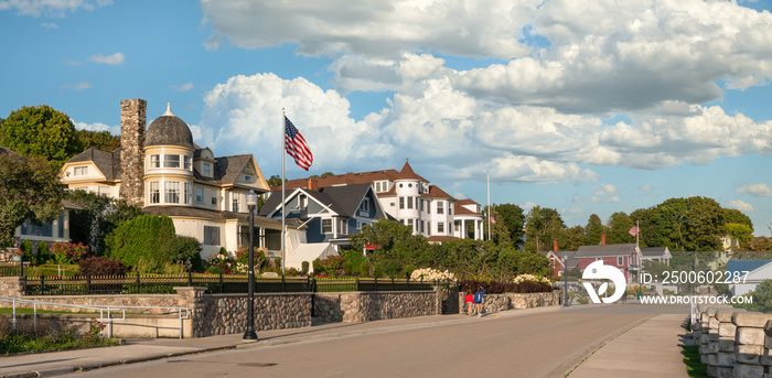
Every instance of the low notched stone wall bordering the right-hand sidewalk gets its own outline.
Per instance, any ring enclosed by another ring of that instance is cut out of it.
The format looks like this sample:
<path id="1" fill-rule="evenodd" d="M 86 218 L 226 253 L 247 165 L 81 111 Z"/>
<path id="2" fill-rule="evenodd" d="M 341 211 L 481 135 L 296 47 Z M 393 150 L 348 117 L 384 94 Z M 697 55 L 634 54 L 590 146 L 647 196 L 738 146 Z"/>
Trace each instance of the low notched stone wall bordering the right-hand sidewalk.
<path id="1" fill-rule="evenodd" d="M 700 305 L 691 332 L 708 377 L 772 377 L 772 314 Z"/>

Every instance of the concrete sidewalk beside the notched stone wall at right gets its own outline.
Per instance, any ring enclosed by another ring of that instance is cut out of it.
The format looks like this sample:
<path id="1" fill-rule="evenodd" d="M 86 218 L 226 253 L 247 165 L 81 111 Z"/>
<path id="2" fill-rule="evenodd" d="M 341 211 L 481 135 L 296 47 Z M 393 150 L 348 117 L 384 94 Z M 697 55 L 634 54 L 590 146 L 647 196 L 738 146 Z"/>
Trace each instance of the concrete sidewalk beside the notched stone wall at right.
<path id="1" fill-rule="evenodd" d="M 654 316 L 596 349 L 569 378 L 688 377 L 682 327 L 688 315 Z"/>

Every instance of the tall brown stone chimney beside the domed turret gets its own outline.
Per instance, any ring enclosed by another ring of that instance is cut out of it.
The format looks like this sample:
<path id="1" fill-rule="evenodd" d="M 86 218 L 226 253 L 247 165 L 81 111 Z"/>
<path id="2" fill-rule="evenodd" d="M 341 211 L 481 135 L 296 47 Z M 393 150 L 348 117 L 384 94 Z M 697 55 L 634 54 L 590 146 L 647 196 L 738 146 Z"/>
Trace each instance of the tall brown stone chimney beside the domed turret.
<path id="1" fill-rule="evenodd" d="M 148 101 L 120 101 L 120 197 L 129 205 L 144 206 L 144 128 Z"/>

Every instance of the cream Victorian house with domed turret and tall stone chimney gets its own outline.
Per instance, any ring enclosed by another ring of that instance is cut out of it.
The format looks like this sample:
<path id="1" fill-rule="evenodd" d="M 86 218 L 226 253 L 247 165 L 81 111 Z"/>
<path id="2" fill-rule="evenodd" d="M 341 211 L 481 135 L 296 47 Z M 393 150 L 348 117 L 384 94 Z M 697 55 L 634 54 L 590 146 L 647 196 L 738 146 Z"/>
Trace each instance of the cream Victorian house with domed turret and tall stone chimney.
<path id="1" fill-rule="evenodd" d="M 120 197 L 142 207 L 146 214 L 167 215 L 176 234 L 192 236 L 202 245 L 202 258 L 221 247 L 235 251 L 249 236 L 246 194 L 269 191 L 251 154 L 216 156 L 199 147 L 187 125 L 167 111 L 146 130 L 147 102 L 121 101 L 120 149 L 88 149 L 62 168 L 62 182 L 69 190 L 85 190 Z M 297 223 L 289 223 L 288 239 L 302 242 Z M 279 220 L 256 217 L 256 245 L 280 256 Z M 292 250 L 293 245 L 288 246 Z"/>

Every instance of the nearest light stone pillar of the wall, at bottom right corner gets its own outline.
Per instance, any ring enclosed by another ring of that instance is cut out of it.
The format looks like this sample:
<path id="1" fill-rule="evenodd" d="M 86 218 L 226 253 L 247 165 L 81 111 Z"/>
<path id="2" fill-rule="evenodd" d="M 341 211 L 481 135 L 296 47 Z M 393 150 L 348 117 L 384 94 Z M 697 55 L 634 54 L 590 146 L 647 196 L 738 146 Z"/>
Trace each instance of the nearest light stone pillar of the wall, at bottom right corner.
<path id="1" fill-rule="evenodd" d="M 735 378 L 762 377 L 764 367 L 761 354 L 764 348 L 764 326 L 772 320 L 772 314 L 736 313 L 732 322 L 735 332 Z"/>

